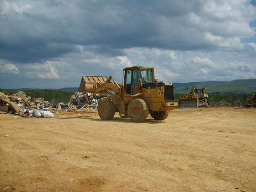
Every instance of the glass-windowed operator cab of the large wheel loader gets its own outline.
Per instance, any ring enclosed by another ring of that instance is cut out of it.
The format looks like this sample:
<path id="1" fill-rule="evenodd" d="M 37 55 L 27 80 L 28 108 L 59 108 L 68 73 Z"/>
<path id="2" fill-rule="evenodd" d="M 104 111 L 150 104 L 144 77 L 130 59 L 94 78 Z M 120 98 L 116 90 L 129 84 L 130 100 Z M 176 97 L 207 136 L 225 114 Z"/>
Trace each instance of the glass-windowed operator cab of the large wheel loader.
<path id="1" fill-rule="evenodd" d="M 136 94 L 142 83 L 155 81 L 154 68 L 151 67 L 127 67 L 124 69 L 124 90 L 126 94 Z"/>

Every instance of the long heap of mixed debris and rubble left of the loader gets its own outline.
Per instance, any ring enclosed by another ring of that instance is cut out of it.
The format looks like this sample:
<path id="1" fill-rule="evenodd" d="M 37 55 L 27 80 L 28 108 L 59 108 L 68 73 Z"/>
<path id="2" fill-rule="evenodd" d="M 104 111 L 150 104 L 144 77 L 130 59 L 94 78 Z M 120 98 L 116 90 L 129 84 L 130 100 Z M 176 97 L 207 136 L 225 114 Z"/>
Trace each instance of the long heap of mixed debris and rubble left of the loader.
<path id="1" fill-rule="evenodd" d="M 71 95 L 68 103 L 44 101 L 44 98 L 31 98 L 25 92 L 18 91 L 12 95 L 0 92 L 0 111 L 23 117 L 53 117 L 57 111 L 85 110 L 92 111 L 98 108 L 98 99 L 106 94 L 91 94 L 76 92 Z"/>

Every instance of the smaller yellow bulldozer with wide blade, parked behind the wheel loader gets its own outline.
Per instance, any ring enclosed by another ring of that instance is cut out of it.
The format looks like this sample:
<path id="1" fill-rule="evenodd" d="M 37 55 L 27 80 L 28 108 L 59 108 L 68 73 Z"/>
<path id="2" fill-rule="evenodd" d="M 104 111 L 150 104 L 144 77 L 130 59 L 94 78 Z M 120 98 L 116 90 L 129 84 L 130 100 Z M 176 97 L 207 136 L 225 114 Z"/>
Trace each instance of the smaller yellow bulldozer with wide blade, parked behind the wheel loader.
<path id="1" fill-rule="evenodd" d="M 179 108 L 209 107 L 209 97 L 205 93 L 205 89 L 205 87 L 196 88 L 193 86 L 191 93 L 189 93 L 189 87 L 187 87 L 187 94 L 179 97 Z"/>

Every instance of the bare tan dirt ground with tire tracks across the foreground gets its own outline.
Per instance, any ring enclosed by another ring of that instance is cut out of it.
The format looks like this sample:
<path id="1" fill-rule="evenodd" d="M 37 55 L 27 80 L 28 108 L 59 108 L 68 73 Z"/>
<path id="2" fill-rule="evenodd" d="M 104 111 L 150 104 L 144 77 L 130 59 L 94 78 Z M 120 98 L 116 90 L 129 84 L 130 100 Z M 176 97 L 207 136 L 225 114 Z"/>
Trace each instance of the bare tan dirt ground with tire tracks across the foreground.
<path id="1" fill-rule="evenodd" d="M 256 109 L 174 109 L 143 123 L 5 114 L 0 133 L 0 191 L 256 191 Z"/>

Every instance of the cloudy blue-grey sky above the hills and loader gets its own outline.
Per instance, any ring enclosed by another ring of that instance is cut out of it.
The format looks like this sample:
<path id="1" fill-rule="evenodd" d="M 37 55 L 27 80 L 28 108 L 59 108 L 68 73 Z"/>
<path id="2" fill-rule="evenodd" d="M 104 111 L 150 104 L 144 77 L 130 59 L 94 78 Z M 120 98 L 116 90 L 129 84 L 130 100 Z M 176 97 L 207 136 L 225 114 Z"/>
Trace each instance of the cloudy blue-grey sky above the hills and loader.
<path id="1" fill-rule="evenodd" d="M 256 0 L 0 0 L 0 88 L 78 87 L 155 67 L 159 81 L 256 78 Z"/>

